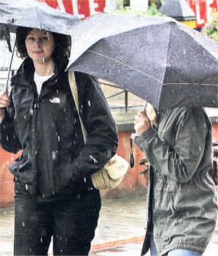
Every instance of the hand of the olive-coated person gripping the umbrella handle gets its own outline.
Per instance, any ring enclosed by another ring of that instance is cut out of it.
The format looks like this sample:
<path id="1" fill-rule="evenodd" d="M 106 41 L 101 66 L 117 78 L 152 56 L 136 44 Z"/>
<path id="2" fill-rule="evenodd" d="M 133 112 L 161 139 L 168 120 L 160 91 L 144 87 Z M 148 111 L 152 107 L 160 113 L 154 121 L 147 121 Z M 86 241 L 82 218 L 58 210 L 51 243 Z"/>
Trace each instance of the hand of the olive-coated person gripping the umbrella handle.
<path id="1" fill-rule="evenodd" d="M 151 127 L 151 121 L 149 121 L 145 111 L 140 111 L 137 116 L 135 116 L 134 124 L 137 135 L 141 135 L 141 133 L 146 132 Z"/>

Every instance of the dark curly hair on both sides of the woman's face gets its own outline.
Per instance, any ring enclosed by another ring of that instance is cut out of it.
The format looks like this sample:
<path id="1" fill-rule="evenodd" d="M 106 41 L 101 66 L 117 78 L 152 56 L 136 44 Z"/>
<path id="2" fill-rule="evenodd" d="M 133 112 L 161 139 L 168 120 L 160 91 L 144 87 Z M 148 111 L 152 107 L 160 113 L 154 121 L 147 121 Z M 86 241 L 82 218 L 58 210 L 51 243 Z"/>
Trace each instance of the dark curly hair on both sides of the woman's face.
<path id="1" fill-rule="evenodd" d="M 32 28 L 26 28 L 19 26 L 16 31 L 16 48 L 18 56 L 21 59 L 26 59 L 28 53 L 26 50 L 25 40 Z M 52 57 L 55 60 L 66 61 L 70 56 L 70 37 L 65 34 L 58 34 L 52 32 L 55 39 L 55 50 L 52 53 Z"/>

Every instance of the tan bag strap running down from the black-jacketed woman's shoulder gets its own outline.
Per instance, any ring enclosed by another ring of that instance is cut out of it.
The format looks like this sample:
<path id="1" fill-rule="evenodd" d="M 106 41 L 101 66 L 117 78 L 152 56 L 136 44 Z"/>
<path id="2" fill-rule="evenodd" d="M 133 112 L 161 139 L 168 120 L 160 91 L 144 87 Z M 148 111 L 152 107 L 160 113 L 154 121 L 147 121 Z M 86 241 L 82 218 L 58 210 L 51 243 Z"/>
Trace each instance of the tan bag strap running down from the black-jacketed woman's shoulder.
<path id="1" fill-rule="evenodd" d="M 70 88 L 71 88 L 71 93 L 72 93 L 72 95 L 74 97 L 74 102 L 75 102 L 75 105 L 76 105 L 76 108 L 77 108 L 77 113 L 78 113 L 78 116 L 79 116 L 79 121 L 80 121 L 80 124 L 81 124 L 81 127 L 82 127 L 83 139 L 84 139 L 84 141 L 86 143 L 87 142 L 87 132 L 86 132 L 85 126 L 84 126 L 84 124 L 82 122 L 82 118 L 79 115 L 79 100 L 78 100 L 77 83 L 76 83 L 74 71 L 70 70 L 68 72 L 68 79 L 69 79 L 69 85 L 70 85 Z"/>

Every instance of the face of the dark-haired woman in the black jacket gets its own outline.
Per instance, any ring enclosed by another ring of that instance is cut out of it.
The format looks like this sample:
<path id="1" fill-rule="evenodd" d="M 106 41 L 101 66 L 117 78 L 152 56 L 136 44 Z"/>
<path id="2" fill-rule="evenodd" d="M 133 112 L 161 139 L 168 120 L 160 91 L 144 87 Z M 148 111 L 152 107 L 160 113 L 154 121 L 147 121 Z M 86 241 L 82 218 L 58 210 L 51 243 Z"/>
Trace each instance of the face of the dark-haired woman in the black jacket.
<path id="1" fill-rule="evenodd" d="M 46 64 L 52 59 L 55 39 L 51 32 L 32 29 L 26 37 L 25 44 L 28 56 L 34 63 Z"/>

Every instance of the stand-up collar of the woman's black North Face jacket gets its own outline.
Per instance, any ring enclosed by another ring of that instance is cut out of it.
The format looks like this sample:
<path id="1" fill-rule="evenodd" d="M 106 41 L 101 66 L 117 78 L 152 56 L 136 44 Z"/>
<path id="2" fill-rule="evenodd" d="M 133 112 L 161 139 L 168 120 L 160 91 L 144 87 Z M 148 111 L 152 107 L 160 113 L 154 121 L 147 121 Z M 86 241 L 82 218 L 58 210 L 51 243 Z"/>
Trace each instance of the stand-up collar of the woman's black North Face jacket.
<path id="1" fill-rule="evenodd" d="M 58 64 L 58 62 L 55 62 L 55 69 L 54 73 L 55 75 L 50 78 L 50 85 L 52 86 L 53 83 L 57 82 L 57 75 L 64 73 L 65 69 L 67 67 L 67 62 Z M 19 69 L 17 69 L 17 73 L 12 77 L 11 84 L 12 86 L 29 86 L 30 82 L 34 81 L 34 62 L 31 58 L 26 58 L 23 63 L 20 65 Z"/>

